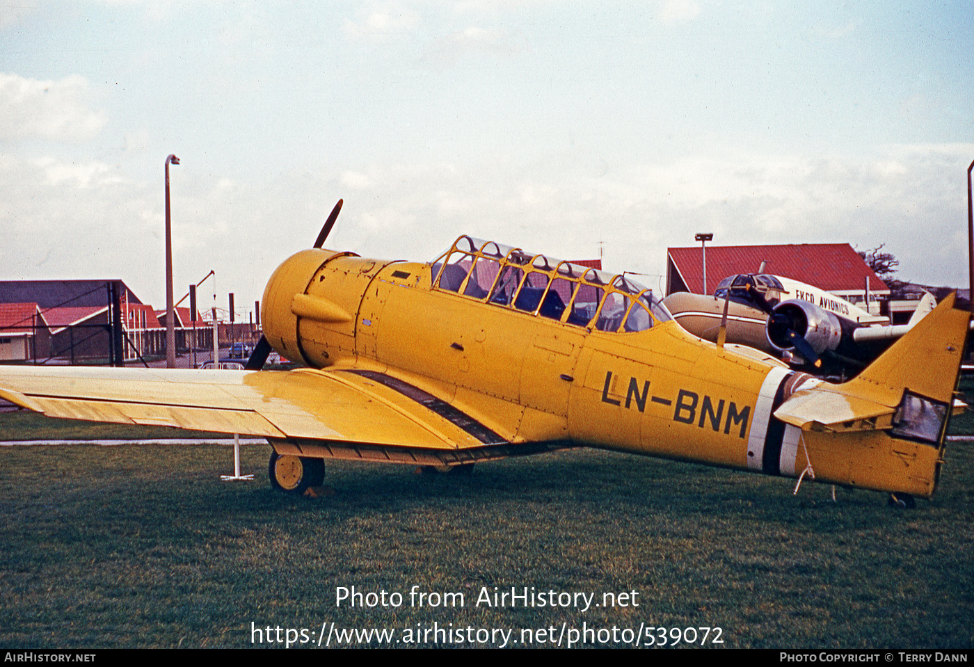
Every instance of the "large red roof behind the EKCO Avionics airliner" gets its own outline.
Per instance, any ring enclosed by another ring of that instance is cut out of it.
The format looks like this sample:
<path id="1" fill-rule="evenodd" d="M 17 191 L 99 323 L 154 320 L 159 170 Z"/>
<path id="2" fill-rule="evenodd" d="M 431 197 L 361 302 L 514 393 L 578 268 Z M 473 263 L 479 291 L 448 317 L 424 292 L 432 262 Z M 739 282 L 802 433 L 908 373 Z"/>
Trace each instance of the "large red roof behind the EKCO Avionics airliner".
<path id="1" fill-rule="evenodd" d="M 764 270 L 761 269 L 765 262 Z M 865 297 L 866 280 L 873 298 L 888 297 L 889 287 L 848 243 L 801 245 L 708 245 L 707 293 L 724 278 L 766 273 L 815 285 L 853 303 Z M 699 246 L 666 252 L 666 294 L 703 293 L 703 257 Z"/>

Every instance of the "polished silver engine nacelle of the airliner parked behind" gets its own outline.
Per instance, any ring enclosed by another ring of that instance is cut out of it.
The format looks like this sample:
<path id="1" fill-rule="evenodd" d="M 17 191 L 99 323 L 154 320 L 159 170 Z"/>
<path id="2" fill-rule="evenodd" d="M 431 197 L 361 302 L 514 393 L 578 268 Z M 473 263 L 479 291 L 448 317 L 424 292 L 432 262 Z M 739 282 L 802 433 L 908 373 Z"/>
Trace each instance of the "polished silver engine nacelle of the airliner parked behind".
<path id="1" fill-rule="evenodd" d="M 815 351 L 836 352 L 845 340 L 851 340 L 854 325 L 814 304 L 792 299 L 783 301 L 771 311 L 765 333 L 768 343 L 778 352 L 797 352 L 792 332 L 805 339 Z"/>

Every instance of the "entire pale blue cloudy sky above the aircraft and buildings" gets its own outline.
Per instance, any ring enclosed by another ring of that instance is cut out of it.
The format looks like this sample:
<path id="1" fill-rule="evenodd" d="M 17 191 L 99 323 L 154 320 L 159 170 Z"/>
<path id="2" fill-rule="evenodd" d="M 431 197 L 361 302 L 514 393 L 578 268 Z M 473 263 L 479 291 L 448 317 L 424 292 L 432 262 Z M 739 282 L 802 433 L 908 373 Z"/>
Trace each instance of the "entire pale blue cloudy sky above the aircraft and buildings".
<path id="1" fill-rule="evenodd" d="M 339 198 L 367 256 L 467 233 L 657 285 L 709 231 L 965 285 L 972 78 L 964 2 L 0 0 L 0 279 L 165 307 L 174 153 L 177 295 L 215 270 L 244 319 Z"/>

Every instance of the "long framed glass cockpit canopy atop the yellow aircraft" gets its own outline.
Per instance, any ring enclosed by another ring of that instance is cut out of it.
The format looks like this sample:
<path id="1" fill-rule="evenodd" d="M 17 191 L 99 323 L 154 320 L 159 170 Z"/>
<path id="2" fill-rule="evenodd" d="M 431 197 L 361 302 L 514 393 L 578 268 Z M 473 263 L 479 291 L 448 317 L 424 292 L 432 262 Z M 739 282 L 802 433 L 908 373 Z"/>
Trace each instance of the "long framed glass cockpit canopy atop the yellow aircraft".
<path id="1" fill-rule="evenodd" d="M 433 260 L 432 284 L 470 299 L 599 331 L 643 331 L 672 319 L 653 290 L 521 248 L 463 236 Z"/>

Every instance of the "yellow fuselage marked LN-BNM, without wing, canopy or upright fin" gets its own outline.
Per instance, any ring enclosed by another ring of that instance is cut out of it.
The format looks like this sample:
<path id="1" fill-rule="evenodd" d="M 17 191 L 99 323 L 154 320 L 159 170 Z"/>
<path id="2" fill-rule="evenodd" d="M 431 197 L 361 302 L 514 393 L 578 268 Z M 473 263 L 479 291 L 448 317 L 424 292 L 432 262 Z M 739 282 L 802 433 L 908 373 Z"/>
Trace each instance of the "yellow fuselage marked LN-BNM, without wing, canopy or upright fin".
<path id="1" fill-rule="evenodd" d="M 436 264 L 302 251 L 268 283 L 265 335 L 282 356 L 313 368 L 363 369 L 421 387 L 515 445 L 570 441 L 933 493 L 939 446 L 879 428 L 802 430 L 774 418 L 794 391 L 819 381 L 762 352 L 718 348 L 663 318 L 633 331 L 596 315 L 571 323 L 567 310 L 543 315 L 547 301 L 522 309 L 511 294 L 501 303 L 503 274 L 490 294 L 471 289 L 473 278 L 444 287 L 439 275 Z M 600 315 L 613 298 L 602 297 Z"/>

